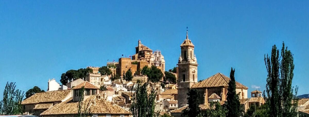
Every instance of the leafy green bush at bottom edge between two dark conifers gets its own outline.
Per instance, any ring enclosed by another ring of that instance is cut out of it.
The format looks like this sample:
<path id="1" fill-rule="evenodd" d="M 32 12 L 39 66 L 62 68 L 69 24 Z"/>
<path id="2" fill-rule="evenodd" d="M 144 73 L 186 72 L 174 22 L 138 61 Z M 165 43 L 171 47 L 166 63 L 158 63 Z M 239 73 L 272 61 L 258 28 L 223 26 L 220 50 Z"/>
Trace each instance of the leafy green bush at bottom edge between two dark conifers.
<path id="1" fill-rule="evenodd" d="M 204 113 L 204 117 L 225 117 L 227 110 L 219 102 L 210 102 L 210 108 Z"/>

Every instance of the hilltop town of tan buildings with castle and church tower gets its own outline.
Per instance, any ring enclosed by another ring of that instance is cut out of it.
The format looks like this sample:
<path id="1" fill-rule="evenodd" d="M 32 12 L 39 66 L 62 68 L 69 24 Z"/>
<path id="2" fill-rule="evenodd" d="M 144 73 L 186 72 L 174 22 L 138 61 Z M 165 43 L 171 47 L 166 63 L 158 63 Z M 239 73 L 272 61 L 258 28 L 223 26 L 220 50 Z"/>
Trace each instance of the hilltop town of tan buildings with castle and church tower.
<path id="1" fill-rule="evenodd" d="M 209 109 L 211 102 L 226 103 L 228 86 L 231 79 L 220 73 L 209 76 L 198 82 L 198 62 L 194 53 L 193 41 L 188 37 L 179 42 L 180 49 L 177 66 L 174 70 L 166 71 L 163 52 L 153 51 L 141 40 L 135 47 L 136 53 L 129 57 L 121 57 L 116 62 L 109 61 L 103 65 L 109 73 L 100 72 L 102 67 L 86 67 L 86 76 L 83 78 L 62 80 L 62 84 L 55 79 L 48 80 L 46 92 L 36 92 L 22 101 L 24 114 L 43 117 L 74 117 L 78 114 L 78 104 L 88 103 L 90 114 L 93 117 L 129 117 L 131 116 L 130 106 L 138 84 L 147 83 L 148 89 L 155 89 L 155 112 L 158 116 L 164 113 L 174 117 L 181 117 L 183 111 L 188 108 L 188 90 L 196 89 L 200 94 L 200 109 Z M 197 50 L 199 51 L 199 50 Z M 163 73 L 163 76 L 153 82 L 145 73 L 144 68 L 156 68 Z M 105 70 L 106 70 L 105 69 Z M 131 73 L 128 76 L 127 73 Z M 165 75 L 171 74 L 176 78 L 175 83 L 164 80 Z M 132 79 L 128 79 L 131 77 Z M 239 101 L 244 111 L 251 106 L 260 107 L 265 104 L 262 92 L 255 90 L 248 92 L 248 87 L 241 81 L 235 81 L 236 93 L 239 94 Z M 83 92 L 80 92 L 84 89 Z M 83 100 L 80 100 L 83 93 Z M 249 97 L 248 97 L 249 95 Z M 301 99 L 298 103 L 298 110 L 307 113 L 309 99 Z"/>

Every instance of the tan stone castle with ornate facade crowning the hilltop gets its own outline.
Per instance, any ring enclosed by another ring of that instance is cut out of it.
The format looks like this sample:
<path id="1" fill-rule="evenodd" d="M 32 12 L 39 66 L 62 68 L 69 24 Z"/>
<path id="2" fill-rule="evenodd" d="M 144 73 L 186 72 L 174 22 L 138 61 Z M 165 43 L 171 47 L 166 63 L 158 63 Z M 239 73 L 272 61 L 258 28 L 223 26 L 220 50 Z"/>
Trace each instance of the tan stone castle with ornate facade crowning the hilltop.
<path id="1" fill-rule="evenodd" d="M 141 40 L 138 40 L 138 46 L 135 47 L 136 53 L 130 57 L 121 57 L 118 62 L 107 62 L 107 66 L 118 76 L 122 76 L 123 73 L 131 69 L 132 73 L 139 74 L 139 70 L 144 66 L 156 66 L 162 72 L 165 71 L 165 60 L 160 50 L 153 52 L 152 49 L 142 44 Z"/>

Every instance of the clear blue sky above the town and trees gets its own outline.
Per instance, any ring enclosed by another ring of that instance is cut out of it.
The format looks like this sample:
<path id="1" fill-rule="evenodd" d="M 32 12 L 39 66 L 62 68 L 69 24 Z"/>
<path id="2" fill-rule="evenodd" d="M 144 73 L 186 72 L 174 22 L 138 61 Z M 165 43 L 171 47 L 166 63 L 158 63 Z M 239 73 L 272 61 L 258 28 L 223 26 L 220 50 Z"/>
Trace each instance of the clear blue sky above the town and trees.
<path id="1" fill-rule="evenodd" d="M 236 69 L 236 81 L 265 90 L 264 54 L 285 41 L 293 86 L 309 86 L 309 1 L 0 1 L 0 99 L 7 81 L 27 91 L 48 79 L 133 55 L 138 39 L 176 66 L 189 28 L 198 80 Z"/>

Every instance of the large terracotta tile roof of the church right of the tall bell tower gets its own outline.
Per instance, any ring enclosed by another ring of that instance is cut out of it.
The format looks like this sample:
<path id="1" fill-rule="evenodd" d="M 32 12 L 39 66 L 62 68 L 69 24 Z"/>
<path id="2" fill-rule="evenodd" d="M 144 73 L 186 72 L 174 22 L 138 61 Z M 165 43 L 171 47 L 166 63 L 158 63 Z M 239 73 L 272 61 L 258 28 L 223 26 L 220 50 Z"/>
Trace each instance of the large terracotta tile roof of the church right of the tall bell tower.
<path id="1" fill-rule="evenodd" d="M 228 86 L 228 83 L 230 82 L 230 78 L 223 75 L 222 73 L 217 73 L 214 76 L 210 76 L 209 78 L 194 84 L 192 88 L 206 88 L 206 87 L 220 87 L 220 86 Z M 240 84 L 236 82 L 236 88 L 244 88 L 248 89 L 248 87 L 244 86 L 243 84 Z"/>

